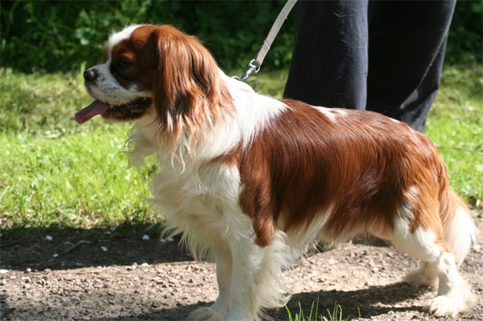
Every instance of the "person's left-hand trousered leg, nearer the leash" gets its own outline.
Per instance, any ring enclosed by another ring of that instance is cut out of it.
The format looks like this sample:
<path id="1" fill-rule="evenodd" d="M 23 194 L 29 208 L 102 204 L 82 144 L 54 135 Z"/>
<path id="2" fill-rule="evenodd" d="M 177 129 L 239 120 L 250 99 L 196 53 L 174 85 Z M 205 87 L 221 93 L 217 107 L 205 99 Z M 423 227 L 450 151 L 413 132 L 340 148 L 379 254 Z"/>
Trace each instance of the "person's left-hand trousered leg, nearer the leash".
<path id="1" fill-rule="evenodd" d="M 366 107 L 368 1 L 299 1 L 284 97 L 325 107 Z"/>

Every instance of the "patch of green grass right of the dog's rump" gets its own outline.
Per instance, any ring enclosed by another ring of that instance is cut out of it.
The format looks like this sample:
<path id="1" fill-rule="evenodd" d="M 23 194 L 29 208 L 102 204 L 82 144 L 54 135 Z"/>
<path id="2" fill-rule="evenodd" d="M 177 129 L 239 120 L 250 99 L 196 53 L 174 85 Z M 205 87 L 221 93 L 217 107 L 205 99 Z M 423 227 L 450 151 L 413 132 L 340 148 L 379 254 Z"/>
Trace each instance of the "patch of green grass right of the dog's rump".
<path id="1" fill-rule="evenodd" d="M 449 169 L 451 187 L 483 207 L 483 69 L 447 67 L 425 134 Z"/>

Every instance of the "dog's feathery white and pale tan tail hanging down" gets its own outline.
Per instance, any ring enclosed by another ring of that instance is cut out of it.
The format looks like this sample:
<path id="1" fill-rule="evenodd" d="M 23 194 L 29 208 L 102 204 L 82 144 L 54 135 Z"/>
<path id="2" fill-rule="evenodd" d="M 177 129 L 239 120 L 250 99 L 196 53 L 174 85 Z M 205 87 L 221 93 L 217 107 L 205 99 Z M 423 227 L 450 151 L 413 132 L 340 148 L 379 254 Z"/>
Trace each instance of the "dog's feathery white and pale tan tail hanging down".
<path id="1" fill-rule="evenodd" d="M 453 247 L 455 263 L 460 267 L 476 245 L 477 229 L 469 207 L 449 187 L 446 187 L 442 197 L 440 217 L 444 239 Z"/>

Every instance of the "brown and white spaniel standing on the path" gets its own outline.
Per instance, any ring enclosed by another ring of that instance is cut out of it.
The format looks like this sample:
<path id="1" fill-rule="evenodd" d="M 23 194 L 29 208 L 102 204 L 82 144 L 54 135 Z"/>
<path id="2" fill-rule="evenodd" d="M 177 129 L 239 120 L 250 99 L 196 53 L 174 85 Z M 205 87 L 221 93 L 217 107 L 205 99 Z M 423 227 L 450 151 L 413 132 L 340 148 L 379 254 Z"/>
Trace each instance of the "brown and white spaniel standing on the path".
<path id="1" fill-rule="evenodd" d="M 424 135 L 373 112 L 256 94 L 170 25 L 112 34 L 103 57 L 84 72 L 96 100 L 76 120 L 137 121 L 132 162 L 157 155 L 152 192 L 168 232 L 216 262 L 219 296 L 191 319 L 260 318 L 288 299 L 279 289 L 293 258 L 359 234 L 421 261 L 406 281 L 437 285 L 430 313 L 469 309 L 457 267 L 475 225 Z"/>

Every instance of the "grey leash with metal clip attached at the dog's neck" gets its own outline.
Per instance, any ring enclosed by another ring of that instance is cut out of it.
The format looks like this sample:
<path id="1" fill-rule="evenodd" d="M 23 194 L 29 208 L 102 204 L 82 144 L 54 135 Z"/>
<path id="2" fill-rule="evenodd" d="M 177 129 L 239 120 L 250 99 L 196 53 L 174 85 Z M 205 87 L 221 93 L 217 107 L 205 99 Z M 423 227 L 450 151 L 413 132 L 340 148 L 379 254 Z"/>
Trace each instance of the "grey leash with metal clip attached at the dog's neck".
<path id="1" fill-rule="evenodd" d="M 270 50 L 270 46 L 275 40 L 275 37 L 277 37 L 280 28 L 282 28 L 284 21 L 287 19 L 288 14 L 290 13 L 290 10 L 292 10 L 293 6 L 295 6 L 295 2 L 297 2 L 297 0 L 287 0 L 284 8 L 282 8 L 282 11 L 280 11 L 280 13 L 278 14 L 277 19 L 275 19 L 275 22 L 273 23 L 270 32 L 268 32 L 268 36 L 266 37 L 262 48 L 260 48 L 259 52 L 255 56 L 255 59 L 252 59 L 252 61 L 248 63 L 248 70 L 246 70 L 243 76 L 234 76 L 233 78 L 239 81 L 245 81 L 245 79 L 247 79 L 250 74 L 256 74 L 260 71 L 260 67 L 262 67 L 262 63 L 264 62 L 268 50 Z"/>

